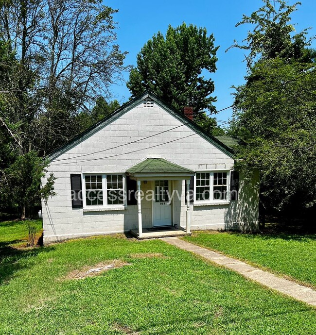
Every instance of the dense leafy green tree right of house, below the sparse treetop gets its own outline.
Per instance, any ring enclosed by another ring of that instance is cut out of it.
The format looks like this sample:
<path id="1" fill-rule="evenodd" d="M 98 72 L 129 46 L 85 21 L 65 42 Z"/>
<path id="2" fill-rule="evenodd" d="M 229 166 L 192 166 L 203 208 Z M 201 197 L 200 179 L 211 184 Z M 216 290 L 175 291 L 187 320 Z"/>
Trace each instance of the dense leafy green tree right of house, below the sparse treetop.
<path id="1" fill-rule="evenodd" d="M 261 80 L 237 88 L 231 129 L 246 143 L 240 149 L 245 159 L 240 164 L 261 170 L 262 199 L 268 207 L 282 210 L 295 204 L 298 209 L 316 203 L 316 72 L 312 71 L 302 73 L 301 64 L 275 58 L 253 67 L 251 75 L 260 75 Z"/>

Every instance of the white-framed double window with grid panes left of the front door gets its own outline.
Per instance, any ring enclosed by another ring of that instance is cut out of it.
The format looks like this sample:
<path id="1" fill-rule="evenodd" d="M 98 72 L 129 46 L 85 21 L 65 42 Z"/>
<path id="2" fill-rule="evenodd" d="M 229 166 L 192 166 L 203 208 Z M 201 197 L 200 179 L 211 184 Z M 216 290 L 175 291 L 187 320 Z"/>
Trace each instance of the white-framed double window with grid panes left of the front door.
<path id="1" fill-rule="evenodd" d="M 84 185 L 87 207 L 124 205 L 125 178 L 123 174 L 84 175 Z"/>

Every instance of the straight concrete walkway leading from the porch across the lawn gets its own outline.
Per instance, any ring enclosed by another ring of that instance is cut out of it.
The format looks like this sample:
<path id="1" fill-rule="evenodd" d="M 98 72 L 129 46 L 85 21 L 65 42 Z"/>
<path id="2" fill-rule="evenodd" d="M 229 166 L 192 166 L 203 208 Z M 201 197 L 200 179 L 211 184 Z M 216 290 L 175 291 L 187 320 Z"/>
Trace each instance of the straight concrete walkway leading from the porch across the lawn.
<path id="1" fill-rule="evenodd" d="M 180 240 L 177 237 L 164 237 L 160 239 L 180 249 L 191 251 L 211 262 L 224 266 L 225 268 L 239 272 L 246 278 L 252 279 L 299 301 L 316 306 L 316 291 L 312 288 L 280 278 L 270 272 L 252 267 L 238 259 L 230 258 L 220 253 L 198 247 L 195 244 Z"/>

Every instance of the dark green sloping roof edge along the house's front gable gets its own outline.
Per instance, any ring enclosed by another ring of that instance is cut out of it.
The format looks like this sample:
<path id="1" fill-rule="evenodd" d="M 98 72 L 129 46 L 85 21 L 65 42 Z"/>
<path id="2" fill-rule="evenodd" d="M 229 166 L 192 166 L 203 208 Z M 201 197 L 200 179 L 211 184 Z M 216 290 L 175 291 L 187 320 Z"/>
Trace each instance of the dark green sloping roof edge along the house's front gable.
<path id="1" fill-rule="evenodd" d="M 154 102 L 156 102 L 158 105 L 160 105 L 162 108 L 167 110 L 171 115 L 176 117 L 181 122 L 185 123 L 189 128 L 191 128 L 194 132 L 197 134 L 200 134 L 204 139 L 209 141 L 211 144 L 213 144 L 216 148 L 226 153 L 229 157 L 233 158 L 234 153 L 231 148 L 229 148 L 226 144 L 222 143 L 219 139 L 212 136 L 211 134 L 208 134 L 203 128 L 198 126 L 195 122 L 190 120 L 188 117 L 186 117 L 183 113 L 180 113 L 176 111 L 173 107 L 171 107 L 166 102 L 162 101 L 158 96 L 150 91 L 145 91 L 144 93 L 138 95 L 134 99 L 126 102 L 123 104 L 119 109 L 117 109 L 114 113 L 110 114 L 109 116 L 103 118 L 101 121 L 95 123 L 91 127 L 89 127 L 84 132 L 74 136 L 72 139 L 70 139 L 65 144 L 61 145 L 59 148 L 53 150 L 51 153 L 49 153 L 45 158 L 52 161 L 65 151 L 68 151 L 72 147 L 74 147 L 76 144 L 80 143 L 81 141 L 88 138 L 90 135 L 96 133 L 100 129 L 104 128 L 107 124 L 111 123 L 115 119 L 121 117 L 123 114 L 131 110 L 133 107 L 137 106 L 142 102 L 144 99 L 150 98 Z"/>

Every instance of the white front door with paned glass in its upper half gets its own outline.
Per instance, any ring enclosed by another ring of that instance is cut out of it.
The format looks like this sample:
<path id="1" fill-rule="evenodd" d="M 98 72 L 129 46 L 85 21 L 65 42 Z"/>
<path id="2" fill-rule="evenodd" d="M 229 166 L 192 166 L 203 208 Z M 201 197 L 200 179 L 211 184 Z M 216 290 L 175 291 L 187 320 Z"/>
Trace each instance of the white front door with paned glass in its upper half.
<path id="1" fill-rule="evenodd" d="M 172 225 L 172 205 L 169 203 L 169 181 L 156 180 L 155 200 L 153 201 L 153 226 Z"/>

